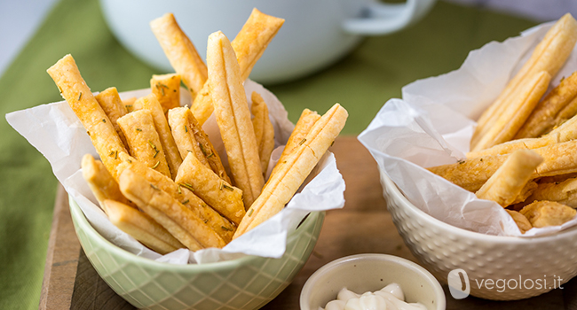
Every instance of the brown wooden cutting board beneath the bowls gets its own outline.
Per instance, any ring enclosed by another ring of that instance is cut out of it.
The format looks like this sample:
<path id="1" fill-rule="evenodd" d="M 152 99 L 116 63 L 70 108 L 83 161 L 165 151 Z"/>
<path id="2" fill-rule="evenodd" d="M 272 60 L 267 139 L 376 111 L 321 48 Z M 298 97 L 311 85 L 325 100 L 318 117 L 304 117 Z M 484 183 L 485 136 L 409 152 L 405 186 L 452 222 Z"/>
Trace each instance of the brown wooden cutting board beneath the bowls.
<path id="1" fill-rule="evenodd" d="M 311 257 L 285 291 L 262 309 L 297 310 L 304 283 L 321 266 L 359 253 L 386 253 L 418 263 L 395 228 L 386 210 L 378 169 L 370 153 L 355 136 L 339 137 L 331 147 L 344 176 L 346 203 L 327 213 Z M 577 281 L 564 290 L 536 298 L 496 302 L 479 298 L 455 300 L 447 295 L 447 309 L 574 309 Z M 48 254 L 44 269 L 40 309 L 134 309 L 116 295 L 91 266 L 75 235 L 66 191 L 59 186 Z"/>

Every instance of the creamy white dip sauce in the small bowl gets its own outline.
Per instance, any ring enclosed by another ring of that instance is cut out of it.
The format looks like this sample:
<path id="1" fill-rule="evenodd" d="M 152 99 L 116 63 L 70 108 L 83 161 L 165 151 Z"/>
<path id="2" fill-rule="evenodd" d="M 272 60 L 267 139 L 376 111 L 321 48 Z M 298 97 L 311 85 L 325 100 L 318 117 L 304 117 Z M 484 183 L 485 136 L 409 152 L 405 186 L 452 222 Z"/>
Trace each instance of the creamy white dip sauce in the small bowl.
<path id="1" fill-rule="evenodd" d="M 319 310 L 427 310 L 420 303 L 407 303 L 399 284 L 391 283 L 381 291 L 366 292 L 361 295 L 344 288 Z"/>

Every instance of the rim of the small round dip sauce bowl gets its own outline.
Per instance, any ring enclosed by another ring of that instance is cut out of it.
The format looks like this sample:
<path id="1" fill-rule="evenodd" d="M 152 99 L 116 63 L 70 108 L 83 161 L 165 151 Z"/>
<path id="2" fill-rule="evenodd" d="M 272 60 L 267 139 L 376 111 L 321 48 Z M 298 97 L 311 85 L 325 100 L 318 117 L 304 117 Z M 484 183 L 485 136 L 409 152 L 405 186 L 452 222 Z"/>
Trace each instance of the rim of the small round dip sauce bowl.
<path id="1" fill-rule="evenodd" d="M 406 267 L 410 270 L 415 271 L 418 275 L 423 276 L 427 282 L 431 283 L 433 288 L 435 298 L 437 301 L 437 309 L 445 309 L 447 306 L 447 298 L 445 297 L 445 291 L 443 291 L 443 287 L 439 283 L 439 280 L 435 278 L 434 275 L 429 272 L 429 270 L 425 269 L 421 265 L 415 263 L 414 261 L 404 259 L 399 256 L 391 255 L 391 254 L 383 254 L 383 253 L 361 253 L 361 254 L 354 254 L 342 257 L 340 259 L 336 259 L 333 261 L 328 262 L 326 265 L 317 269 L 304 283 L 303 289 L 301 290 L 299 304 L 301 308 L 306 305 L 306 301 L 308 296 L 311 292 L 312 285 L 319 280 L 322 275 L 328 273 L 331 269 L 335 267 L 339 267 L 343 264 L 350 263 L 352 261 L 359 261 L 359 260 L 383 260 L 383 261 L 391 261 L 396 263 L 402 267 Z"/>

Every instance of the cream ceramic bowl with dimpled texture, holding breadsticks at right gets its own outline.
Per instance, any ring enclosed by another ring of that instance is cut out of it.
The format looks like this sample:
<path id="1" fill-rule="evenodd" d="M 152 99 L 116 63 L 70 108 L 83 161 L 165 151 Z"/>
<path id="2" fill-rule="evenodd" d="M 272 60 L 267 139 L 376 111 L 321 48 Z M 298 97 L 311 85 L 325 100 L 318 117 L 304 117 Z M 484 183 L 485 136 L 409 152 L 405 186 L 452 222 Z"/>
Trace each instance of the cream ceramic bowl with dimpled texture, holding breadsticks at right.
<path id="1" fill-rule="evenodd" d="M 531 238 L 459 229 L 411 204 L 383 170 L 380 174 L 400 236 L 439 281 L 447 283 L 449 272 L 462 268 L 469 277 L 470 295 L 515 300 L 551 291 L 577 275 L 577 228 Z"/>

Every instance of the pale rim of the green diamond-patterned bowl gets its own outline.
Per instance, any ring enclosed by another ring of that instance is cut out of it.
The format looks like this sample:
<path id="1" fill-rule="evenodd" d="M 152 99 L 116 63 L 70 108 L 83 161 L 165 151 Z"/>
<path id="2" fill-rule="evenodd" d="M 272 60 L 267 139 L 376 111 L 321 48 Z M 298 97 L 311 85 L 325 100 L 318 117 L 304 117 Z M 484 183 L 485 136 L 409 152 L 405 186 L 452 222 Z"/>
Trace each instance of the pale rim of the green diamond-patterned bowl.
<path id="1" fill-rule="evenodd" d="M 222 269 L 227 269 L 229 267 L 235 267 L 242 265 L 245 261 L 249 260 L 257 260 L 257 259 L 266 259 L 265 257 L 256 256 L 256 255 L 247 255 L 235 260 L 224 260 L 224 261 L 217 261 L 212 263 L 204 263 L 204 264 L 172 264 L 168 262 L 156 261 L 147 259 L 144 257 L 140 257 L 134 253 L 128 252 L 121 248 L 118 245 L 115 245 L 107 240 L 104 236 L 100 235 L 96 229 L 94 229 L 91 223 L 86 219 L 83 211 L 80 209 L 80 206 L 75 202 L 72 196 L 68 195 L 68 202 L 70 205 L 70 213 L 72 215 L 72 220 L 75 224 L 78 225 L 78 229 L 83 229 L 83 232 L 87 235 L 91 236 L 91 239 L 96 239 L 99 241 L 99 244 L 103 244 L 107 248 L 107 252 L 113 252 L 115 255 L 122 256 L 125 260 L 133 260 L 138 264 L 143 264 L 148 267 L 156 267 L 156 268 L 164 268 L 164 269 L 172 269 L 173 271 L 185 271 L 185 272 L 194 272 L 198 270 L 202 271 L 217 271 Z M 304 221 L 300 224 L 298 229 L 308 228 L 311 225 L 314 225 L 322 212 L 311 212 L 309 215 L 306 216 Z M 287 243 L 292 238 L 297 236 L 297 229 L 290 232 L 287 236 Z"/>

